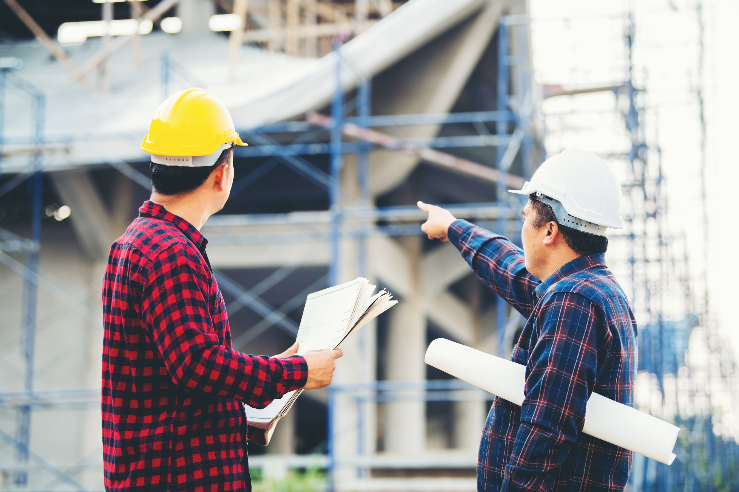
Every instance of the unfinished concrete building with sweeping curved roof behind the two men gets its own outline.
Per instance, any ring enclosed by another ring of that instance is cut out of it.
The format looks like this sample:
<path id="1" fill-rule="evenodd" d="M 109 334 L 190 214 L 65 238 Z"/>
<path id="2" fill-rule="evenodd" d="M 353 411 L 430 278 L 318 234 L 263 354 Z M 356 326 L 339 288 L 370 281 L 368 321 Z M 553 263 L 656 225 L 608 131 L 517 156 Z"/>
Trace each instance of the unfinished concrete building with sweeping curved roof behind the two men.
<path id="1" fill-rule="evenodd" d="M 165 94 L 203 86 L 250 143 L 236 154 L 231 200 L 203 228 L 234 347 L 280 352 L 307 293 L 360 274 L 402 301 L 350 340 L 335 379 L 341 391 L 305 394 L 268 454 L 250 448 L 253 467 L 279 477 L 316 462 L 340 490 L 474 490 L 489 404 L 480 392 L 427 402 L 426 379 L 444 376 L 423 353 L 436 336 L 504 352 L 519 318 L 454 248 L 419 235 L 414 204 L 457 204 L 458 217 L 517 236 L 518 210 L 501 190 L 539 159 L 528 30 L 515 17 L 525 1 L 262 0 L 245 12 L 236 0 L 226 3 L 251 28 L 228 38 L 202 22 L 214 2 L 179 3 L 178 34 L 134 35 L 115 51 L 122 38 L 67 47 L 91 82 L 105 66 L 106 90 L 92 94 L 34 42 L 0 45 L 0 57 L 24 63 L 7 80 L 20 76 L 46 98 L 41 139 L 28 100 L 6 97 L 3 106 L 2 480 L 18 484 L 30 469 L 27 490 L 101 488 L 101 272 L 109 244 L 149 195 L 139 145 L 151 114 Z M 514 16 L 501 24 L 504 15 Z M 347 26 L 354 37 L 330 51 Z M 18 184 L 38 169 L 49 217 L 35 269 L 23 257 L 35 246 L 21 240 L 33 238 L 33 195 Z M 59 205 L 71 209 L 64 221 L 53 218 Z M 32 320 L 28 285 L 38 288 Z M 381 386 L 389 381 L 406 386 Z M 327 447 L 328 457 L 302 456 Z"/>

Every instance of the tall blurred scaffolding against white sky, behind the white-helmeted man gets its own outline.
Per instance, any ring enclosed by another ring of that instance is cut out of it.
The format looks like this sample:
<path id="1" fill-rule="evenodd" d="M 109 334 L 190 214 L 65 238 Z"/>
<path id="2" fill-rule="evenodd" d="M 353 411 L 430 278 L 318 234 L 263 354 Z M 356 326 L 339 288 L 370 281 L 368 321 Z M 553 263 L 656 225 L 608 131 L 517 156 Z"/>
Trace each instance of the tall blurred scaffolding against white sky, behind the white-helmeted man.
<path id="1" fill-rule="evenodd" d="M 687 13 L 691 10 L 695 11 L 699 24 L 698 73 L 702 74 L 701 2 L 689 7 Z M 580 20 L 593 21 L 592 18 Z M 733 403 L 737 398 L 735 357 L 718 332 L 708 306 L 706 286 L 701 288 L 706 258 L 696 276 L 685 235 L 671 232 L 667 227 L 666 164 L 660 134 L 655 128 L 655 108 L 650 107 L 650 91 L 644 76 L 636 81 L 635 13 L 629 11 L 610 20 L 621 22 L 624 32 L 623 82 L 568 91 L 559 87 L 548 89 L 550 94 L 573 100 L 594 92 L 612 94 L 612 108 L 602 112 L 613 121 L 620 119 L 623 125 L 621 131 L 613 134 L 613 141 L 619 142 L 621 135 L 625 136 L 626 148 L 613 150 L 609 157 L 622 179 L 625 227 L 624 231 L 609 235 L 609 265 L 616 270 L 619 280 L 627 280 L 627 292 L 639 326 L 636 403 L 641 409 L 681 427 L 675 446 L 677 460 L 668 467 L 635 454 L 628 490 L 733 491 L 739 487 Z M 701 122 L 698 187 L 700 207 L 705 213 L 706 136 L 700 81 L 693 90 L 698 100 L 695 119 Z M 582 118 L 600 111 L 574 101 L 571 106 L 578 109 L 570 114 L 551 115 L 542 111 L 547 119 L 545 132 L 552 141 L 565 141 L 568 135 L 578 135 L 582 131 L 578 126 L 584 121 Z M 588 123 L 605 125 L 610 121 L 605 118 Z M 707 228 L 704 234 L 707 238 Z"/>

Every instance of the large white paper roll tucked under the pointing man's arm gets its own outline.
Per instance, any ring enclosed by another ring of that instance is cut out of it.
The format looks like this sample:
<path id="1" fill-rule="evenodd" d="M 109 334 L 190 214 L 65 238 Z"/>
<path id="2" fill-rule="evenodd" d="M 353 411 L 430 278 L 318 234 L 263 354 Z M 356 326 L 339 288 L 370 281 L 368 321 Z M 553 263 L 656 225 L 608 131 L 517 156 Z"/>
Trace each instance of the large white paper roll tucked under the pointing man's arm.
<path id="1" fill-rule="evenodd" d="M 467 381 L 518 406 L 523 403 L 526 368 L 522 364 L 435 339 L 426 350 L 426 364 Z M 658 462 L 672 464 L 679 427 L 623 403 L 593 393 L 585 407 L 582 432 Z"/>

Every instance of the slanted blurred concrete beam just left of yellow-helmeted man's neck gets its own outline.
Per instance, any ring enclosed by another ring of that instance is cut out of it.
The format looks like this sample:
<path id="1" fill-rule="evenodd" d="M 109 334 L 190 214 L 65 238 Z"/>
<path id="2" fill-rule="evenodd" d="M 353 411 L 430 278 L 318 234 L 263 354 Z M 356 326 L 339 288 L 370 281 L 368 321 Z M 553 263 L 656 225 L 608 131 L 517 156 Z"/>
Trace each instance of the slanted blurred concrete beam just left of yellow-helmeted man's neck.
<path id="1" fill-rule="evenodd" d="M 114 239 L 112 219 L 89 174 L 79 170 L 49 176 L 63 203 L 72 209 L 69 220 L 86 256 L 106 258 Z"/>

